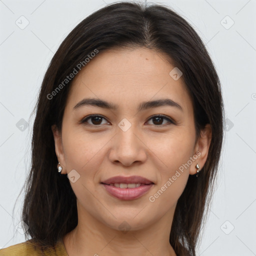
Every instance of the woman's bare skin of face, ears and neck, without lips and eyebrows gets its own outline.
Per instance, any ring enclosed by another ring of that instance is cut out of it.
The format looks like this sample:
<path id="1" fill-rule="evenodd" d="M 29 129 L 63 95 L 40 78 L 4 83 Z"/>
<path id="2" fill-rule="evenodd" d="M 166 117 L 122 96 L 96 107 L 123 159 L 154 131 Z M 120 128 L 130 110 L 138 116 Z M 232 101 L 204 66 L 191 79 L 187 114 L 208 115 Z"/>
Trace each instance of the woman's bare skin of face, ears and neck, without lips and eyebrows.
<path id="1" fill-rule="evenodd" d="M 175 206 L 189 174 L 196 173 L 196 163 L 201 169 L 206 161 L 211 130 L 206 125 L 195 140 L 192 101 L 182 78 L 169 75 L 173 68 L 159 52 L 124 48 L 99 52 L 75 76 L 61 132 L 52 126 L 61 173 L 75 169 L 80 175 L 74 183 L 70 181 L 77 198 L 78 225 L 63 238 L 69 256 L 176 255 L 168 240 Z M 73 110 L 85 97 L 104 99 L 118 108 L 87 105 Z M 161 98 L 174 100 L 183 111 L 173 106 L 137 110 L 142 101 Z M 79 123 L 91 114 L 103 119 Z M 155 120 L 152 115 L 156 114 L 176 124 Z M 131 124 L 126 131 L 118 126 L 123 118 Z M 196 151 L 200 156 L 150 202 L 149 196 Z M 137 199 L 120 200 L 100 184 L 116 175 L 140 175 L 154 185 Z M 126 232 L 119 228 L 124 221 Z"/>

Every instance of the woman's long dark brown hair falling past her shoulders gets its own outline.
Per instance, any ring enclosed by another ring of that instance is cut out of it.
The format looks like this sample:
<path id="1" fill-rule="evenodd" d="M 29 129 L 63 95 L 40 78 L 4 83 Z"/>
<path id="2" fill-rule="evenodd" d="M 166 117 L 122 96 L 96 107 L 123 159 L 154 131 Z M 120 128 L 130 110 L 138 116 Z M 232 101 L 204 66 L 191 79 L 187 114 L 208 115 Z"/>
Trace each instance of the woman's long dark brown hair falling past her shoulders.
<path id="1" fill-rule="evenodd" d="M 51 131 L 52 124 L 61 130 L 72 79 L 65 85 L 63 81 L 95 49 L 102 52 L 112 47 L 134 46 L 164 53 L 174 61 L 192 99 L 196 135 L 206 123 L 211 126 L 206 162 L 198 178 L 189 175 L 176 204 L 169 236 L 177 255 L 195 255 L 221 153 L 220 81 L 202 40 L 184 18 L 162 4 L 124 1 L 108 4 L 76 25 L 60 44 L 44 75 L 35 106 L 31 167 L 22 208 L 22 221 L 28 225 L 25 237 L 31 237 L 38 246 L 54 246 L 77 225 L 76 197 L 66 175 L 58 175 Z M 56 91 L 61 83 L 63 86 Z M 54 90 L 56 93 L 52 93 Z"/>

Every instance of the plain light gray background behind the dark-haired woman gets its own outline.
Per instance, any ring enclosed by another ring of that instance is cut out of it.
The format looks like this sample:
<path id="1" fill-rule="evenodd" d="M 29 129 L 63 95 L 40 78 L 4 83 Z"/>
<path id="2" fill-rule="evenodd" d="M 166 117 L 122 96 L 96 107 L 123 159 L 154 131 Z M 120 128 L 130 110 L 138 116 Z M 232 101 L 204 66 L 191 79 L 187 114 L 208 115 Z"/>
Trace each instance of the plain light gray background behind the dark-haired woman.
<path id="1" fill-rule="evenodd" d="M 0 0 L 0 247 L 25 240 L 16 229 L 23 191 L 17 196 L 29 170 L 34 115 L 29 116 L 44 72 L 70 30 L 110 2 Z M 172 7 L 201 36 L 220 77 L 228 118 L 217 188 L 197 254 L 256 255 L 256 1 L 154 2 Z"/>

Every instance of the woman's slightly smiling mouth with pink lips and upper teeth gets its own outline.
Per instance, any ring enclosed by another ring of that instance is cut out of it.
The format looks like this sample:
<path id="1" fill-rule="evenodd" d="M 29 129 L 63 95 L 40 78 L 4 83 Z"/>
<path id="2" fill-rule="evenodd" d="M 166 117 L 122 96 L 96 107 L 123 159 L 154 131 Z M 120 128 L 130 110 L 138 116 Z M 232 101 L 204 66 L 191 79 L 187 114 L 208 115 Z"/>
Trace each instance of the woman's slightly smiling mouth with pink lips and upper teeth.
<path id="1" fill-rule="evenodd" d="M 141 176 L 115 176 L 100 182 L 113 197 L 121 200 L 134 200 L 145 194 L 154 182 Z"/>

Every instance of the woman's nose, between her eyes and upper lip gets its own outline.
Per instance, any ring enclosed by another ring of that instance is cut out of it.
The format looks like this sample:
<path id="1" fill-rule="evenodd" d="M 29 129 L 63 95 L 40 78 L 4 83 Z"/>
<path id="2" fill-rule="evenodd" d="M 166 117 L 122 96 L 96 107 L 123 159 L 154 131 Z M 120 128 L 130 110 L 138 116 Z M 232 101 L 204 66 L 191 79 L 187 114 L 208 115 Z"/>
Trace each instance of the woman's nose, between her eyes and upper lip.
<path id="1" fill-rule="evenodd" d="M 116 135 L 111 139 L 109 159 L 113 163 L 130 166 L 146 160 L 146 148 L 142 135 L 131 125 L 126 131 L 117 127 Z"/>

